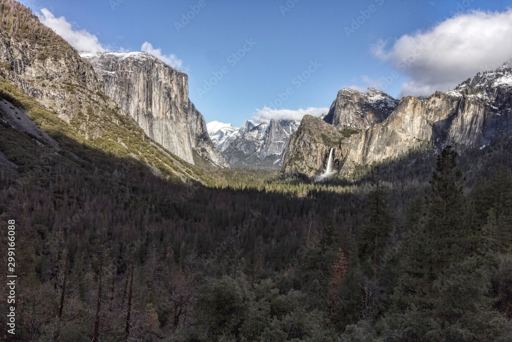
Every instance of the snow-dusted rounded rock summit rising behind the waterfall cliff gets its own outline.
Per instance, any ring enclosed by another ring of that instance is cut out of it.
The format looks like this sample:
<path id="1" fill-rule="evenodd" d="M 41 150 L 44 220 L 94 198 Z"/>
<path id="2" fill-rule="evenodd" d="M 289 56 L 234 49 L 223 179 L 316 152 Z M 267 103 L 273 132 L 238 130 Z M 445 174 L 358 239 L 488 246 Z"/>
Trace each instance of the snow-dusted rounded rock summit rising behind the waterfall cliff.
<path id="1" fill-rule="evenodd" d="M 324 120 L 339 129 L 364 130 L 385 120 L 397 105 L 398 100 L 374 88 L 368 88 L 366 94 L 344 88 Z"/>

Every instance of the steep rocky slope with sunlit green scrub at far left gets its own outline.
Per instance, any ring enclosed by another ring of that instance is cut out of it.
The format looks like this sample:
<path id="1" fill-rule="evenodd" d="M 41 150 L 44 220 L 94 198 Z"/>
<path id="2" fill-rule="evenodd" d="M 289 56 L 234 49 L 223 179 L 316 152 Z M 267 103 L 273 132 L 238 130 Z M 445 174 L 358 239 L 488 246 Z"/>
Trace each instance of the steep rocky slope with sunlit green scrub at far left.
<path id="1" fill-rule="evenodd" d="M 209 176 L 148 138 L 130 113 L 104 94 L 102 79 L 91 63 L 81 58 L 65 39 L 42 25 L 30 8 L 12 1 L 4 3 L 0 13 L 4 18 L 4 27 L 0 30 L 0 76 L 7 80 L 6 88 L 12 84 L 15 93 L 14 87 L 23 90 L 48 110 L 40 113 L 37 107 L 25 112 L 13 104 L 19 118 L 16 117 L 16 124 L 11 126 L 39 136 L 41 141 L 46 140 L 56 149 L 66 150 L 70 147 L 68 143 L 76 140 L 98 151 L 133 158 L 154 174 L 177 182 L 212 183 Z M 32 110 L 35 112 L 31 113 Z M 188 102 L 187 110 L 196 111 Z M 54 125 L 57 120 L 51 113 L 68 124 L 66 131 L 58 131 L 58 127 L 63 126 Z M 32 114 L 36 115 L 30 122 Z M 8 122 L 6 115 L 3 120 Z M 201 131 L 204 126 L 204 122 L 198 122 L 190 131 Z M 204 135 L 202 137 L 204 139 Z M 196 142 L 196 146 L 201 145 Z M 200 153 L 208 153 L 205 150 L 194 152 L 201 158 Z"/>

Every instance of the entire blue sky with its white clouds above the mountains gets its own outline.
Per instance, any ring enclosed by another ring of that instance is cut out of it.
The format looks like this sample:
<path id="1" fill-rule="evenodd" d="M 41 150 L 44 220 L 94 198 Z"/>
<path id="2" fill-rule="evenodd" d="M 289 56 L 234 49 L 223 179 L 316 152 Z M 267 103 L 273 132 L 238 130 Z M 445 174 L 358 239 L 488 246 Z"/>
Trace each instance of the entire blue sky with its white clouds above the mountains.
<path id="1" fill-rule="evenodd" d="M 143 49 L 177 66 L 206 121 L 236 126 L 319 114 L 344 87 L 445 91 L 512 57 L 512 1 L 22 3 L 77 49 Z"/>

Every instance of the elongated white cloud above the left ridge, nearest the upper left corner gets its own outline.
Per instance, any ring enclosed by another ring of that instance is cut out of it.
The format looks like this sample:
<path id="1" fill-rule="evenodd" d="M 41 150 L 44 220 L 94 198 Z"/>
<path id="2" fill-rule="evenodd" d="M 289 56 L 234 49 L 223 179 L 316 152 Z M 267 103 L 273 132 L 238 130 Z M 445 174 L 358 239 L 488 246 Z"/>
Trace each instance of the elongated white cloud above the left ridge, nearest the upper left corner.
<path id="1" fill-rule="evenodd" d="M 86 30 L 74 30 L 65 17 L 57 18 L 46 8 L 41 9 L 41 13 L 36 13 L 36 15 L 43 25 L 51 28 L 78 51 L 103 52 L 106 50 L 99 43 L 98 37 Z"/>

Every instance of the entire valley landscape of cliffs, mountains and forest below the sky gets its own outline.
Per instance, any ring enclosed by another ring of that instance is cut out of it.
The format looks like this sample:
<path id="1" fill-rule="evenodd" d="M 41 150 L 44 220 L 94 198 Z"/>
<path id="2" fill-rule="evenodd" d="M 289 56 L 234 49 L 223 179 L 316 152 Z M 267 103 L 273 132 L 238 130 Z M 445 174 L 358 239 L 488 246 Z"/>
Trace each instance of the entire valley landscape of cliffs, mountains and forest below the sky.
<path id="1" fill-rule="evenodd" d="M 161 51 L 79 52 L 33 13 L 0 0 L 17 265 L 0 338 L 512 339 L 510 61 L 449 91 L 344 87 L 327 112 L 237 127 L 206 123 L 197 79 Z"/>

